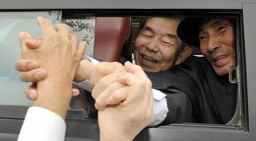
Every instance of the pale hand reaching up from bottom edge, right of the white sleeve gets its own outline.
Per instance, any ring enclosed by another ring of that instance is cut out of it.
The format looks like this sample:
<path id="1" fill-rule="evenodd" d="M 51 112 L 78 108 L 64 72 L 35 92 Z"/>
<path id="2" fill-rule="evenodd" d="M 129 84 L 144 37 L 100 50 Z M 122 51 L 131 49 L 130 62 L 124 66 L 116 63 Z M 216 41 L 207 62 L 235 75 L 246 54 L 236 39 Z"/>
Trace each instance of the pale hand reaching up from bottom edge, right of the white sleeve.
<path id="1" fill-rule="evenodd" d="M 128 73 L 120 76 L 118 82 L 126 85 L 113 92 L 107 101 L 121 101 L 99 110 L 100 138 L 116 141 L 133 140 L 153 120 L 152 83 L 140 66 L 125 63 Z M 111 89 L 108 90 L 111 93 Z M 115 134 L 121 134 L 116 139 Z"/>

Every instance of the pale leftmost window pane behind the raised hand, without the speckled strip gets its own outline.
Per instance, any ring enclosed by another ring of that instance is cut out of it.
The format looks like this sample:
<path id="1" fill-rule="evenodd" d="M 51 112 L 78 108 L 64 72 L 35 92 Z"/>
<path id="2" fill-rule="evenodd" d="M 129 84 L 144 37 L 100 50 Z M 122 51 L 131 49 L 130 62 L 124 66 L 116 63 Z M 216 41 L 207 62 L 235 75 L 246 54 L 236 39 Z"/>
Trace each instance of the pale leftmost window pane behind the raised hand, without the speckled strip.
<path id="1" fill-rule="evenodd" d="M 1 12 L 0 13 L 0 104 L 33 105 L 24 94 L 31 83 L 19 80 L 19 72 L 14 63 L 21 59 L 18 33 L 26 31 L 32 37 L 40 36 L 40 26 L 36 17 L 51 19 L 54 24 L 60 22 L 61 11 L 55 12 Z"/>

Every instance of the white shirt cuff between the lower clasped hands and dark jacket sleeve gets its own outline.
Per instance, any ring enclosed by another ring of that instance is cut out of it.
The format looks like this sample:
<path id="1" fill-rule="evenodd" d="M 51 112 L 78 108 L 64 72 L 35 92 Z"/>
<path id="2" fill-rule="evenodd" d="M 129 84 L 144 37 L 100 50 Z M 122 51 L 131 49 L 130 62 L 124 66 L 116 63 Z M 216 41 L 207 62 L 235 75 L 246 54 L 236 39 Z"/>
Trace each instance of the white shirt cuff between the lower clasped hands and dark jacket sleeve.
<path id="1" fill-rule="evenodd" d="M 154 97 L 154 103 L 153 103 L 154 120 L 149 125 L 149 127 L 159 125 L 161 122 L 163 122 L 169 111 L 167 107 L 166 94 L 156 89 L 152 89 L 152 91 L 153 91 L 153 97 Z"/>

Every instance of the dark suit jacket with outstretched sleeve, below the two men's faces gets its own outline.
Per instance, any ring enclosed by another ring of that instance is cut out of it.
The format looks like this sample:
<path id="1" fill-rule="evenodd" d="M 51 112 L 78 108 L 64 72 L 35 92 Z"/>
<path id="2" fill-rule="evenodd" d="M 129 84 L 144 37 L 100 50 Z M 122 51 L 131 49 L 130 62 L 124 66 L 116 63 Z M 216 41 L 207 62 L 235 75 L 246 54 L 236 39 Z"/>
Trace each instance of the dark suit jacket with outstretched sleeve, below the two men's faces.
<path id="1" fill-rule="evenodd" d="M 235 113 L 237 85 L 216 75 L 204 57 L 190 56 L 171 71 L 146 74 L 152 88 L 167 95 L 169 112 L 161 125 L 225 124 Z"/>

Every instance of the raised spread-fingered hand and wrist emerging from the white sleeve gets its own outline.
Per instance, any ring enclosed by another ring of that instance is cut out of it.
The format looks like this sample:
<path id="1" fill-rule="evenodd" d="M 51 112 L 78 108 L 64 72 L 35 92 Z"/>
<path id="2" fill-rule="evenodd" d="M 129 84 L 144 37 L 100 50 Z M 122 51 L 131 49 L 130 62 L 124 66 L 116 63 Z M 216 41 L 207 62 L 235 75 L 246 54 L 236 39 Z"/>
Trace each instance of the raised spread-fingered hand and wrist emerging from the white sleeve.
<path id="1" fill-rule="evenodd" d="M 20 32 L 18 35 L 21 58 L 37 61 L 39 68 L 47 72 L 47 78 L 37 82 L 38 98 L 34 106 L 52 110 L 65 118 L 71 99 L 72 81 L 85 52 L 86 43 L 81 42 L 77 48 L 78 38 L 70 34 L 70 28 L 65 24 L 57 24 L 54 28 L 51 21 L 43 17 L 38 17 L 37 22 L 43 35 L 43 41 L 38 48 L 27 47 L 29 45 L 26 40 L 31 39 L 28 33 Z"/>

